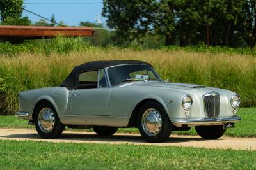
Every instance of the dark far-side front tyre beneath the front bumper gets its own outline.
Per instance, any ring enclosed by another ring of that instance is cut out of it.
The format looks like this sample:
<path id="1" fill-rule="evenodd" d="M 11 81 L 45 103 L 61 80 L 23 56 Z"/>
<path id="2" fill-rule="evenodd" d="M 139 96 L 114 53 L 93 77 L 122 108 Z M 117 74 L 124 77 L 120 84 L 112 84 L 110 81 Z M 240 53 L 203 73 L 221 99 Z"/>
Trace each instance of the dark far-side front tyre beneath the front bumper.
<path id="1" fill-rule="evenodd" d="M 196 132 L 204 139 L 218 139 L 226 132 L 223 125 L 196 126 Z"/>

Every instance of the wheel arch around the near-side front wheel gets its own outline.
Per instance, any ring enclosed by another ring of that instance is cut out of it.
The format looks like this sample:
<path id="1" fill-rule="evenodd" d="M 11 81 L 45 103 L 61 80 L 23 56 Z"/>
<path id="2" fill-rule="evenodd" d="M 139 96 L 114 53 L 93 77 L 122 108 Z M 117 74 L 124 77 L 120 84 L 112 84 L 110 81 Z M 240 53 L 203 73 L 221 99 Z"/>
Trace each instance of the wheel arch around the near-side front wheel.
<path id="1" fill-rule="evenodd" d="M 129 117 L 129 122 L 128 122 L 128 127 L 137 127 L 137 120 L 138 120 L 138 113 L 140 111 L 140 108 L 141 106 L 143 106 L 143 104 L 147 103 L 148 101 L 154 101 L 158 104 L 160 104 L 164 110 L 166 111 L 167 113 L 167 116 L 169 117 L 169 114 L 168 114 L 168 108 L 166 106 L 166 104 L 164 103 L 164 101 L 159 98 L 159 99 L 156 99 L 156 97 L 149 97 L 149 98 L 145 98 L 145 99 L 142 99 L 140 100 L 133 108 L 132 110 L 132 113 L 131 113 L 131 116 Z M 170 117 L 169 117 L 170 118 Z"/>

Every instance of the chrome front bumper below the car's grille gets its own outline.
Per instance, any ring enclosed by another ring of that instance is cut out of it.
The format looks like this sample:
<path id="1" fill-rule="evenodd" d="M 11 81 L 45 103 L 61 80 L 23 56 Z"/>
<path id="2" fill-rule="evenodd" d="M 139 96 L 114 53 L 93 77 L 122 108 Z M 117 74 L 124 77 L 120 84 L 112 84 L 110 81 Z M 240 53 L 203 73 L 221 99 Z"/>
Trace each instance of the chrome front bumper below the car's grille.
<path id="1" fill-rule="evenodd" d="M 191 127 L 198 125 L 224 125 L 225 123 L 238 122 L 241 117 L 220 117 L 220 118 L 172 118 L 171 122 L 177 127 Z"/>

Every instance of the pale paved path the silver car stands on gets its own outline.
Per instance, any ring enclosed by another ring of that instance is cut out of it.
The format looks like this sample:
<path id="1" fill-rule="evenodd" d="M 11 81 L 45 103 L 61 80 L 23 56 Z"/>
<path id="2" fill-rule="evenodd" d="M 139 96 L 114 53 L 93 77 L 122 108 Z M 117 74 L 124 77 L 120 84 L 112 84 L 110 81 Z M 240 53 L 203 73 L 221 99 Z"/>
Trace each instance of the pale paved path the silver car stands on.
<path id="1" fill-rule="evenodd" d="M 147 143 L 140 134 L 115 134 L 102 137 L 93 132 L 63 132 L 60 139 L 42 139 L 31 129 L 0 129 L 0 139 L 16 141 L 51 141 L 64 143 L 128 143 L 133 145 L 188 146 L 197 148 L 231 148 L 234 150 L 256 150 L 256 138 L 231 138 L 205 140 L 198 136 L 171 135 L 164 143 Z"/>

